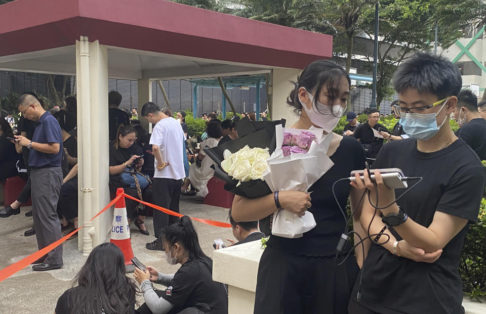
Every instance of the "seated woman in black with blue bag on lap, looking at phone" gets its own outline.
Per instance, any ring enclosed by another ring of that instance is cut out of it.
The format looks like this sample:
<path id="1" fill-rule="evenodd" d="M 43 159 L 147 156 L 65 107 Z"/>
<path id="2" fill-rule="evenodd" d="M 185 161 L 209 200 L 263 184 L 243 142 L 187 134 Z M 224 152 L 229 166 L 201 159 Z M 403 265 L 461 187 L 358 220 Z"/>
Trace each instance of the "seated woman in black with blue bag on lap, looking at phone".
<path id="1" fill-rule="evenodd" d="M 126 168 L 135 168 L 140 171 L 143 166 L 143 158 L 140 158 L 137 164 L 134 164 L 135 160 L 143 155 L 142 148 L 135 143 L 135 130 L 131 126 L 121 126 L 116 134 L 116 139 L 110 143 L 110 194 L 115 195 L 116 189 L 123 188 L 126 194 L 133 196 L 135 198 L 139 197 L 139 192 L 137 187 L 131 187 L 130 185 L 121 182 L 120 174 L 124 172 Z M 146 202 L 152 201 L 152 187 L 149 184 L 145 189 L 140 191 L 142 198 Z M 140 208 L 139 202 L 126 199 L 127 205 L 127 217 L 128 223 L 130 223 L 130 218 L 135 216 L 138 211 L 138 218 L 135 220 L 135 226 L 140 230 L 143 235 L 149 235 L 143 221 L 147 215 L 148 209 L 145 207 Z M 143 206 L 143 205 L 142 205 Z"/>

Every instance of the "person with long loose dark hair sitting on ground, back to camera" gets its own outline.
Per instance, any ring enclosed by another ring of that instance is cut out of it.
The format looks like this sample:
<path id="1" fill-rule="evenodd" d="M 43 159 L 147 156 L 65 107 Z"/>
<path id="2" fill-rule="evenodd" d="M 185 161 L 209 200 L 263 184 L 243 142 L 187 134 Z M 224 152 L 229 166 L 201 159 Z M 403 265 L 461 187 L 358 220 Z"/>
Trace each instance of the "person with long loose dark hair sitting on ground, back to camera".
<path id="1" fill-rule="evenodd" d="M 72 288 L 59 297 L 54 314 L 133 314 L 137 292 L 125 276 L 123 253 L 113 243 L 102 243 L 91 251 Z"/>

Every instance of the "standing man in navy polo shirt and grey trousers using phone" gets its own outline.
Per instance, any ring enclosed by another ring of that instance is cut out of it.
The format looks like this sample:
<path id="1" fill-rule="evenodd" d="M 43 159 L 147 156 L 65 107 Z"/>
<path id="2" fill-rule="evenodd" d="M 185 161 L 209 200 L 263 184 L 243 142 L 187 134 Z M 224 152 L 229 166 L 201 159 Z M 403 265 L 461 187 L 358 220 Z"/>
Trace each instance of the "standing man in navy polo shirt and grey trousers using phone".
<path id="1" fill-rule="evenodd" d="M 61 239 L 61 225 L 56 212 L 59 191 L 62 184 L 62 136 L 59 122 L 44 110 L 32 95 L 24 94 L 18 100 L 17 108 L 22 115 L 37 121 L 32 141 L 16 136 L 17 145 L 29 151 L 32 218 L 37 246 L 40 249 Z M 33 262 L 32 270 L 50 271 L 63 266 L 62 246 L 58 246 L 42 258 Z"/>

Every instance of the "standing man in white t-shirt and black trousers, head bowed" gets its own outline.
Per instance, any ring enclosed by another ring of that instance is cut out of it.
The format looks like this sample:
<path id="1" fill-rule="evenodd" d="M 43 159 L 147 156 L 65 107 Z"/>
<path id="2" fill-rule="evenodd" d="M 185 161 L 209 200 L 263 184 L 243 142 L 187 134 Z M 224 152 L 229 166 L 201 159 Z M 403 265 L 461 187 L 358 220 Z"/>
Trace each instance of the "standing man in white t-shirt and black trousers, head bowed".
<path id="1" fill-rule="evenodd" d="M 155 124 L 150 137 L 153 156 L 155 157 L 153 202 L 155 205 L 179 212 L 179 199 L 184 172 L 184 132 L 181 124 L 160 111 L 152 102 L 142 107 L 142 117 Z M 179 220 L 159 210 L 153 211 L 153 230 L 158 238 L 160 230 Z M 161 250 L 157 240 L 147 243 L 149 250 Z"/>

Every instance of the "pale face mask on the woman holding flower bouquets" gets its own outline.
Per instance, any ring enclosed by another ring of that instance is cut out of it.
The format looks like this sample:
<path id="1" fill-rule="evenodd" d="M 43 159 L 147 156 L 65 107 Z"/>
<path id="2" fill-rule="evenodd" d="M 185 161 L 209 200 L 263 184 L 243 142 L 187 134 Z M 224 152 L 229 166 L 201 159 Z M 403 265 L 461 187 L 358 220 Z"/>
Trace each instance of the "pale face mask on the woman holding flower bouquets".
<path id="1" fill-rule="evenodd" d="M 310 121 L 318 127 L 324 129 L 326 132 L 332 132 L 336 125 L 338 125 L 339 119 L 343 115 L 344 108 L 341 107 L 341 105 L 322 105 L 319 101 L 316 100 L 317 105 L 320 106 L 319 109 L 322 111 L 319 112 L 317 108 L 315 108 L 314 97 L 309 92 L 307 92 L 307 96 L 309 96 L 310 102 L 312 103 L 312 108 L 307 109 L 307 106 L 304 102 L 300 101 L 300 103 L 302 107 L 304 107 L 305 113 L 307 113 Z"/>

